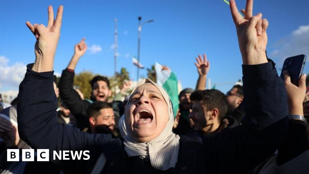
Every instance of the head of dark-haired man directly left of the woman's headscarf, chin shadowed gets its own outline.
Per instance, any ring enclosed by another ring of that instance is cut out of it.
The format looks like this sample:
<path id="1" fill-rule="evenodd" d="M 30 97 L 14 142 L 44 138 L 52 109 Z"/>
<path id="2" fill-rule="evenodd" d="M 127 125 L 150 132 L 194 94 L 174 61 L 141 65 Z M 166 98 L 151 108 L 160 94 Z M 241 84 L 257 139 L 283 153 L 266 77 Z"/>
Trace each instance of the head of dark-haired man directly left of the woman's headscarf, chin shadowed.
<path id="1" fill-rule="evenodd" d="M 115 127 L 115 115 L 112 104 L 108 102 L 94 102 L 88 109 L 90 129 L 89 133 L 113 133 Z"/>

